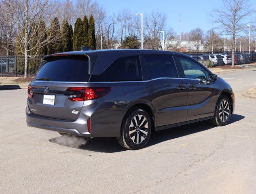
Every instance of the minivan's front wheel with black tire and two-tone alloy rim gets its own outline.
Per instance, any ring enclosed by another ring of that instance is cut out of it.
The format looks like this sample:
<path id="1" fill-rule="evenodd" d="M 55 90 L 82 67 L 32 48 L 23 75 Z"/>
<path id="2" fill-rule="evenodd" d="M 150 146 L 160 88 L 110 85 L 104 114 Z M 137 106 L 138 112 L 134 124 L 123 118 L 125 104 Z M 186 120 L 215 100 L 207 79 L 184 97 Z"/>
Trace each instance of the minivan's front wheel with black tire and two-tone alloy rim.
<path id="1" fill-rule="evenodd" d="M 226 104 L 223 105 L 224 102 L 228 103 L 229 110 L 224 109 L 224 112 L 223 112 L 220 109 L 222 109 L 222 106 L 224 106 L 225 108 Z M 228 112 L 229 114 L 227 115 L 226 112 Z M 214 118 L 212 119 L 212 123 L 216 126 L 224 126 L 228 124 L 231 118 L 231 113 L 232 113 L 232 106 L 229 98 L 226 95 L 220 95 L 218 102 L 216 103 L 215 113 L 214 113 Z"/>

